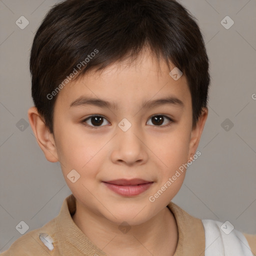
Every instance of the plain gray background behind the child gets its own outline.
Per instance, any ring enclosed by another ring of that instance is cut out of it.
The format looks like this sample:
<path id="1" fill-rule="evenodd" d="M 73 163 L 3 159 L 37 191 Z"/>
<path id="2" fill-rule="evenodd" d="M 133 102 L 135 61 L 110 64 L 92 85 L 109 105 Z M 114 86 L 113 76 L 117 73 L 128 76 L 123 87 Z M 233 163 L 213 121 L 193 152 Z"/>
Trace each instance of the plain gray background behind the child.
<path id="1" fill-rule="evenodd" d="M 28 231 L 42 226 L 71 193 L 59 163 L 45 159 L 26 127 L 33 105 L 29 50 L 56 2 L 0 0 L 0 252 L 21 236 L 15 228 L 21 220 Z M 198 20 L 212 81 L 201 156 L 172 201 L 198 218 L 229 220 L 238 230 L 256 233 L 256 0 L 179 2 Z M 29 21 L 24 29 L 15 24 L 21 15 Z M 229 29 L 220 23 L 227 15 L 234 21 Z"/>

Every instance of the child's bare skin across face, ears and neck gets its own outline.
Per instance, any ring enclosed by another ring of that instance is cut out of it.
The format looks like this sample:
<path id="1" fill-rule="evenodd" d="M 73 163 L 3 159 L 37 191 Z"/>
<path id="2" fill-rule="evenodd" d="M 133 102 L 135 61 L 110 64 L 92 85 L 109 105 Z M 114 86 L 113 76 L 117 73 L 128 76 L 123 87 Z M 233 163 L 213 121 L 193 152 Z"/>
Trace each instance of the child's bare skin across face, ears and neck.
<path id="1" fill-rule="evenodd" d="M 174 66 L 172 65 L 172 68 Z M 81 95 L 116 101 L 118 109 L 80 105 L 69 107 Z M 142 109 L 143 100 L 173 95 L 184 106 L 159 105 Z M 99 126 L 90 115 L 102 115 Z M 152 116 L 165 115 L 157 124 Z M 65 181 L 76 198 L 75 224 L 105 253 L 122 255 L 173 255 L 178 233 L 173 214 L 166 207 L 180 189 L 185 171 L 154 202 L 154 195 L 183 163 L 195 154 L 208 114 L 204 108 L 192 129 L 191 95 L 184 75 L 174 80 L 164 61 L 146 50 L 132 63 L 107 66 L 102 73 L 89 71 L 71 81 L 57 95 L 51 134 L 35 107 L 28 118 L 48 161 L 59 161 Z M 118 123 L 126 118 L 131 127 Z M 85 125 L 87 124 L 87 126 Z M 91 128 L 91 126 L 96 128 Z M 166 126 L 170 124 L 169 126 Z M 80 178 L 67 178 L 75 169 Z M 136 196 L 121 196 L 102 180 L 142 178 L 154 181 Z M 118 228 L 126 221 L 126 233 Z M 164 239 L 163 239 L 164 238 Z"/>

